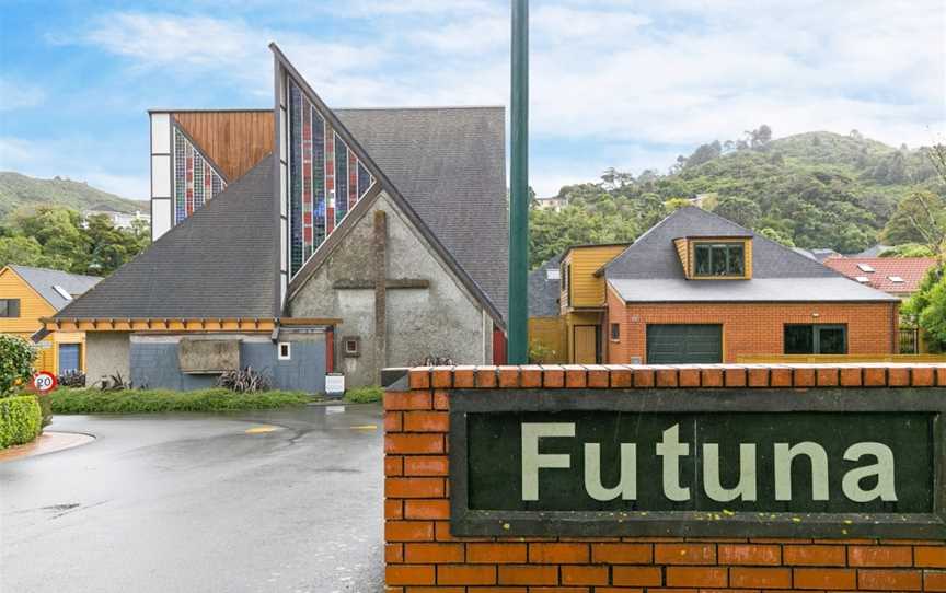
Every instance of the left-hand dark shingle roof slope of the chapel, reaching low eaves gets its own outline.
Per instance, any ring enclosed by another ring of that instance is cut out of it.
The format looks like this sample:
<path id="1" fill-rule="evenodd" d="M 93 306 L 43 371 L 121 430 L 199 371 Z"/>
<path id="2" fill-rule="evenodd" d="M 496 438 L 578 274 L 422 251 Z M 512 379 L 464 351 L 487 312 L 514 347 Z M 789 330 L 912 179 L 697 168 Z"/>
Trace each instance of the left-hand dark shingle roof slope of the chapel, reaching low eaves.
<path id="1" fill-rule="evenodd" d="M 274 207 L 267 156 L 57 316 L 272 318 Z"/>

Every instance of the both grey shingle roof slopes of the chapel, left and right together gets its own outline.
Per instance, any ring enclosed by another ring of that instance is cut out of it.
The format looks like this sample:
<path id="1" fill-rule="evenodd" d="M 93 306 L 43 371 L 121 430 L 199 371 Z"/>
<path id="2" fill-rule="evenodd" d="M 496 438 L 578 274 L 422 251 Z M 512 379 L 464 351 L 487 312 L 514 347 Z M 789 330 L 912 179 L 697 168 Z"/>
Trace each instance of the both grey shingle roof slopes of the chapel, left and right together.
<path id="1" fill-rule="evenodd" d="M 505 316 L 501 107 L 335 112 Z M 61 317 L 272 317 L 278 230 L 267 156 Z"/>

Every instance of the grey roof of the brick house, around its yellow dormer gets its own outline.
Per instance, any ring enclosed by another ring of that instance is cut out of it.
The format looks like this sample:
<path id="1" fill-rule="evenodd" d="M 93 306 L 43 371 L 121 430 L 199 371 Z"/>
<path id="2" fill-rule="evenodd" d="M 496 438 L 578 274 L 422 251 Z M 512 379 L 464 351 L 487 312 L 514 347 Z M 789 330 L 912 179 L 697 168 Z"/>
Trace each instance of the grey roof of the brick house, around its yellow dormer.
<path id="1" fill-rule="evenodd" d="M 752 236 L 752 279 L 687 281 L 673 240 Z M 625 300 L 655 301 L 888 301 L 889 295 L 696 207 L 677 210 L 603 268 Z M 789 280 L 786 280 L 789 279 Z"/>

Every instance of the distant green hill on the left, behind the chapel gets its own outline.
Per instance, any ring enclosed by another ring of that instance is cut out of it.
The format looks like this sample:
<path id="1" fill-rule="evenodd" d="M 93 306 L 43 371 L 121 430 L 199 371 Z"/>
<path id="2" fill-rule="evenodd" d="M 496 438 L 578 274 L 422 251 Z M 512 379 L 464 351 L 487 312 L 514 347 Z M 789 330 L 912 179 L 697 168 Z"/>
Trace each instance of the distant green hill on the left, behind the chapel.
<path id="1" fill-rule="evenodd" d="M 134 213 L 148 210 L 148 202 L 122 198 L 83 182 L 55 177 L 38 179 L 13 172 L 0 172 L 0 220 L 21 207 L 58 205 L 74 210 L 102 209 Z"/>

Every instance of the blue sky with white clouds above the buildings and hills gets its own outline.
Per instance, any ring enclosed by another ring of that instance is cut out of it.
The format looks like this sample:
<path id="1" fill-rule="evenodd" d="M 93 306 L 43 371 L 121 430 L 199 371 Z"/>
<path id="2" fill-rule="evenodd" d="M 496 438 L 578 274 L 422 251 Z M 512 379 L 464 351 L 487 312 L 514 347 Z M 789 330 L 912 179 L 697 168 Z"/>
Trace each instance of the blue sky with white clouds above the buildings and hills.
<path id="1" fill-rule="evenodd" d="M 941 0 L 532 0 L 530 184 L 812 130 L 946 135 Z M 0 171 L 148 198 L 149 108 L 270 108 L 276 42 L 333 107 L 509 104 L 509 2 L 0 0 Z M 508 113 L 507 113 L 508 120 Z"/>

